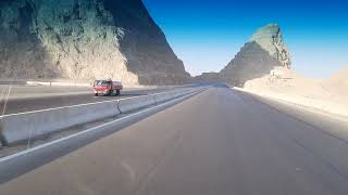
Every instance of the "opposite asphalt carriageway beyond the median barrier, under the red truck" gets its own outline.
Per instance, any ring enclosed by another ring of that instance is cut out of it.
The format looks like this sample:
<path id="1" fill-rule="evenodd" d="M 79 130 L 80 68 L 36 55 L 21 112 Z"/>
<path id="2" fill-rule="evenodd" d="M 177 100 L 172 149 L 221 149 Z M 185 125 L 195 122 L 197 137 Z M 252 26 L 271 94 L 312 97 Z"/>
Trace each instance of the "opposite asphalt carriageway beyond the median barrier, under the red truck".
<path id="1" fill-rule="evenodd" d="M 13 86 L 10 99 L 5 104 L 9 87 L 10 86 L 0 86 L 0 114 L 3 112 L 4 107 L 4 114 L 16 114 L 76 104 L 119 100 L 173 90 L 173 87 L 125 89 L 120 96 L 96 98 L 92 94 L 91 88 Z"/>

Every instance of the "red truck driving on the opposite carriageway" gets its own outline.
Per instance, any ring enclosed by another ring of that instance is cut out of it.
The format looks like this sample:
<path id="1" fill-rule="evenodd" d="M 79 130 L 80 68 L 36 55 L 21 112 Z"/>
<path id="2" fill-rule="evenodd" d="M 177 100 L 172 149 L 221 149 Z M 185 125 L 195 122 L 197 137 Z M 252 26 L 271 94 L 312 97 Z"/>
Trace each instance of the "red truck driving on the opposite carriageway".
<path id="1" fill-rule="evenodd" d="M 114 93 L 116 93 L 116 95 L 120 95 L 122 90 L 123 84 L 119 81 L 96 80 L 94 82 L 94 92 L 96 96 L 98 96 L 99 94 L 112 95 Z"/>

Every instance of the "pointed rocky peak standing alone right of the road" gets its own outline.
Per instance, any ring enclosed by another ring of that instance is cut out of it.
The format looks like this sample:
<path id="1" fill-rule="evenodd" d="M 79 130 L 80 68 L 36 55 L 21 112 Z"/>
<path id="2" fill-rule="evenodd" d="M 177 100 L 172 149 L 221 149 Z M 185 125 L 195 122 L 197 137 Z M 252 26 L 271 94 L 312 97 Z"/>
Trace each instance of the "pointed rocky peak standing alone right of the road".
<path id="1" fill-rule="evenodd" d="M 281 29 L 271 24 L 260 28 L 220 75 L 231 84 L 244 86 L 248 80 L 270 75 L 277 67 L 289 69 L 290 66 L 290 54 Z"/>

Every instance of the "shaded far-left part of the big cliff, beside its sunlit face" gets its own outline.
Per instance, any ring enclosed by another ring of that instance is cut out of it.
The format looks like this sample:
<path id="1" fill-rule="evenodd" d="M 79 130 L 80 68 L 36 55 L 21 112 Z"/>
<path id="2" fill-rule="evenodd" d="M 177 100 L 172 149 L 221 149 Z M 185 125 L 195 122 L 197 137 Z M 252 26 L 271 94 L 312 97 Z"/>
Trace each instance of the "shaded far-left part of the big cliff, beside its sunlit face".
<path id="1" fill-rule="evenodd" d="M 34 8 L 25 1 L 0 4 L 0 74 L 16 78 L 36 75 L 53 77 L 58 69 L 48 63 L 49 54 L 34 34 Z"/>

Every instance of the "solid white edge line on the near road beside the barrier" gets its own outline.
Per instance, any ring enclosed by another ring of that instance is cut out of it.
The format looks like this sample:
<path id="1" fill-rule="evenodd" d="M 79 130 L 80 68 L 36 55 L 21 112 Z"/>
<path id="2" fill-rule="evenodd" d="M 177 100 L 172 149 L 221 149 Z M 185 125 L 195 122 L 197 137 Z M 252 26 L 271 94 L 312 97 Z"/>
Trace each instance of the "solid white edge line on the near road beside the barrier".
<path id="1" fill-rule="evenodd" d="M 194 92 L 194 93 L 195 93 L 195 92 Z M 36 146 L 36 147 L 33 147 L 33 148 L 28 148 L 28 150 L 25 150 L 25 151 L 23 151 L 23 152 L 20 152 L 20 153 L 16 153 L 16 154 L 13 154 L 13 155 L 10 155 L 10 156 L 7 156 L 7 157 L 2 157 L 2 158 L 0 158 L 0 164 L 1 164 L 1 162 L 4 162 L 4 161 L 8 161 L 8 160 L 11 160 L 11 159 L 13 159 L 13 158 L 20 157 L 20 156 L 27 155 L 27 154 L 33 153 L 33 152 L 36 152 L 36 151 L 39 151 L 39 150 L 45 148 L 45 147 L 47 147 L 47 146 L 54 145 L 55 143 L 60 143 L 60 142 L 63 142 L 63 141 L 65 141 L 65 140 L 73 139 L 73 138 L 79 136 L 79 135 L 82 135 L 82 134 L 86 134 L 86 133 L 88 133 L 88 132 L 91 132 L 91 131 L 95 131 L 95 130 L 97 130 L 97 129 L 107 127 L 107 126 L 109 126 L 109 125 L 116 123 L 116 122 L 122 121 L 122 120 L 125 120 L 125 119 L 127 119 L 127 118 L 141 115 L 142 113 L 150 112 L 150 110 L 152 110 L 152 109 L 157 109 L 157 108 L 159 108 L 159 107 L 166 106 L 166 105 L 169 105 L 169 104 L 172 104 L 173 102 L 184 100 L 184 99 L 188 98 L 189 95 L 191 95 L 191 94 L 194 94 L 194 93 L 189 93 L 189 94 L 186 94 L 186 95 L 184 95 L 184 96 L 182 96 L 182 98 L 174 99 L 174 100 L 172 100 L 172 101 L 170 101 L 170 102 L 166 102 L 166 103 L 163 103 L 163 104 L 159 104 L 159 105 L 156 105 L 156 106 L 153 106 L 153 107 L 149 107 L 149 108 L 147 108 L 147 109 L 142 109 L 142 110 L 140 110 L 140 112 L 137 112 L 137 113 L 134 113 L 134 114 L 124 116 L 124 117 L 122 117 L 122 118 L 117 118 L 117 119 L 112 120 L 112 121 L 110 121 L 110 122 L 107 122 L 107 123 L 103 123 L 103 125 L 100 125 L 100 126 L 97 126 L 97 127 L 94 127 L 94 128 L 84 130 L 84 131 L 82 131 L 82 132 L 78 132 L 78 133 L 75 133 L 75 134 L 71 134 L 71 135 L 69 135 L 69 136 L 65 136 L 65 138 L 59 139 L 59 140 L 54 140 L 54 141 L 52 141 L 52 142 L 49 142 L 49 143 L 46 143 L 46 144 L 42 144 L 42 145 L 38 145 L 38 146 Z"/>

